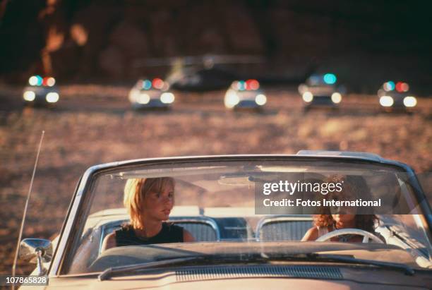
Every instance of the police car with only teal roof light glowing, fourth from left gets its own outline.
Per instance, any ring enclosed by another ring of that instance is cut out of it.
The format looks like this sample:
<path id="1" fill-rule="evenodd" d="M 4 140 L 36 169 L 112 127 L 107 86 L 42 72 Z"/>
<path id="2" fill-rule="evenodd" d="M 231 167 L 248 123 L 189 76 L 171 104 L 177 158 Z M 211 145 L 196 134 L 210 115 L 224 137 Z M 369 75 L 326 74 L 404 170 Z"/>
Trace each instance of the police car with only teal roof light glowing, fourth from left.
<path id="1" fill-rule="evenodd" d="M 343 86 L 337 85 L 334 73 L 313 74 L 306 83 L 299 85 L 299 93 L 304 102 L 304 109 L 311 107 L 331 107 L 337 109 L 342 102 Z"/>

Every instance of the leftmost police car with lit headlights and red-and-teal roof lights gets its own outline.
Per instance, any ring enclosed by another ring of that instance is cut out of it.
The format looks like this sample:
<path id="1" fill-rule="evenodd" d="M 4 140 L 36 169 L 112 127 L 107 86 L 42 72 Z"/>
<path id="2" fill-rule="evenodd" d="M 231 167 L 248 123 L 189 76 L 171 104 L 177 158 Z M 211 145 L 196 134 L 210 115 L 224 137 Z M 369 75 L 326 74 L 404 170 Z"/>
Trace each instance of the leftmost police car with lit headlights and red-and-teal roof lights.
<path id="1" fill-rule="evenodd" d="M 32 75 L 23 90 L 25 106 L 54 107 L 59 98 L 56 80 L 48 76 L 42 78 L 40 75 Z"/>

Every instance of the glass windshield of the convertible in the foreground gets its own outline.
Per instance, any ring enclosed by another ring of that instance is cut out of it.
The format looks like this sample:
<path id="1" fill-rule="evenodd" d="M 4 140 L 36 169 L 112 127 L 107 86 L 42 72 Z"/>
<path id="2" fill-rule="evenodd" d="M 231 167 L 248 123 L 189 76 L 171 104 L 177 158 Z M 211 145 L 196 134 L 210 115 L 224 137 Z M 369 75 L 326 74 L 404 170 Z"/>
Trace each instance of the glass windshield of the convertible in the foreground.
<path id="1" fill-rule="evenodd" d="M 160 190 L 150 183 L 160 184 Z M 238 255 L 241 261 L 245 256 L 299 253 L 431 267 L 427 201 L 421 199 L 412 173 L 394 164 L 276 157 L 172 159 L 97 171 L 86 188 L 79 196 L 82 207 L 62 274 L 203 255 L 217 262 L 220 255 Z M 156 201 L 148 204 L 149 198 Z M 164 220 L 170 231 L 163 236 L 162 226 L 142 235 L 143 228 L 150 229 L 145 221 L 139 226 L 143 219 Z M 351 226 L 340 226 L 349 221 Z M 129 230 L 131 240 L 121 241 Z M 107 247 L 114 233 L 116 242 Z M 191 239 L 185 241 L 186 236 Z"/>

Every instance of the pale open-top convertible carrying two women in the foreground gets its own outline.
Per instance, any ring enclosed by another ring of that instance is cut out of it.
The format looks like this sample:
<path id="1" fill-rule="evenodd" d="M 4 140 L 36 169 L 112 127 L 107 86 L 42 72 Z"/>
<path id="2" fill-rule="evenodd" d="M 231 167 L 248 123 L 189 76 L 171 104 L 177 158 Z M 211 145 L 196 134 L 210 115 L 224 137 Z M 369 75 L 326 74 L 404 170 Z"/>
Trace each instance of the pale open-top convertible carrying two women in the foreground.
<path id="1" fill-rule="evenodd" d="M 105 250 L 106 237 L 130 222 L 128 180 L 167 176 L 175 180 L 168 222 L 195 241 Z M 317 203 L 330 200 L 331 176 L 355 184 L 356 218 L 376 217 L 373 230 L 360 222 L 301 241 L 328 210 Z M 20 258 L 35 262 L 32 274 L 46 275 L 48 288 L 431 289 L 431 226 L 414 171 L 370 153 L 138 159 L 85 171 L 59 236 L 24 239 Z"/>

